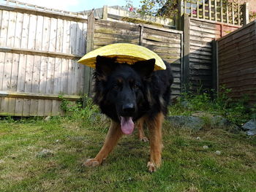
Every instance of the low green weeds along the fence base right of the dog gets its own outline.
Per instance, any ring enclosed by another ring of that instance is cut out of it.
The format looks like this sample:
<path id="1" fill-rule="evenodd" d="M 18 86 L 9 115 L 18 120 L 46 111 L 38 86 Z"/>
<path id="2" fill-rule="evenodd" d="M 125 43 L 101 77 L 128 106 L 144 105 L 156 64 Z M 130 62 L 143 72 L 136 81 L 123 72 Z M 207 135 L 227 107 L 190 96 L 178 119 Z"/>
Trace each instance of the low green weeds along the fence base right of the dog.
<path id="1" fill-rule="evenodd" d="M 242 99 L 232 99 L 231 89 L 222 86 L 219 93 L 201 91 L 197 93 L 186 91 L 181 93 L 176 104 L 170 107 L 170 115 L 191 115 L 193 112 L 208 112 L 213 115 L 222 115 L 230 122 L 241 125 L 251 118 L 256 118 L 256 105 L 249 107 L 248 96 Z"/>

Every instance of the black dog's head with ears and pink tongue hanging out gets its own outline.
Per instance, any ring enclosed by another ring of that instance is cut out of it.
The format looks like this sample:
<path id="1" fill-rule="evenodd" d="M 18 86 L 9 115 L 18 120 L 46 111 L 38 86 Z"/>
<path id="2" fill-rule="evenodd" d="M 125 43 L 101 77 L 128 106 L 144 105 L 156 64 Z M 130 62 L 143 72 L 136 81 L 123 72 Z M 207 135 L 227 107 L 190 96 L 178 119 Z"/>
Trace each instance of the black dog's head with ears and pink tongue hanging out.
<path id="1" fill-rule="evenodd" d="M 97 56 L 94 101 L 102 112 L 121 122 L 124 134 L 131 134 L 140 105 L 145 102 L 145 82 L 154 72 L 155 59 L 119 64 L 115 58 Z"/>

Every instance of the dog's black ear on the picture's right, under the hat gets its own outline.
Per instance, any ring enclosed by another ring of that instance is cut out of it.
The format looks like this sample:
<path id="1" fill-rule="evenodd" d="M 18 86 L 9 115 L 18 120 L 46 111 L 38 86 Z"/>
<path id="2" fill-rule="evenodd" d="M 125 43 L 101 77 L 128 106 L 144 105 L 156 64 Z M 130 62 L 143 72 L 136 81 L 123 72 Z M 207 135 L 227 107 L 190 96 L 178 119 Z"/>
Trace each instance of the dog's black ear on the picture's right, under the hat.
<path id="1" fill-rule="evenodd" d="M 132 65 L 132 68 L 135 69 L 143 77 L 151 77 L 151 74 L 154 72 L 154 64 L 156 60 L 154 58 L 148 59 L 146 61 L 138 61 Z"/>

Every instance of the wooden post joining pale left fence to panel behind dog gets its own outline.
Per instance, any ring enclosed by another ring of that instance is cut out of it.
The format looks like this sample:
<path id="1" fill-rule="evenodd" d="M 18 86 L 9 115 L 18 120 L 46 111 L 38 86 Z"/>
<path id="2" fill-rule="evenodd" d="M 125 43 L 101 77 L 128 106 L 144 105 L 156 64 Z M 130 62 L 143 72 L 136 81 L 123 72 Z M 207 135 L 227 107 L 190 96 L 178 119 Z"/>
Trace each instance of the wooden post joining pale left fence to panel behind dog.
<path id="1" fill-rule="evenodd" d="M 86 34 L 86 53 L 94 49 L 94 10 L 90 13 L 87 20 L 87 34 Z M 92 69 L 86 66 L 84 77 L 84 93 L 91 96 L 91 74 Z M 86 99 L 83 99 L 83 107 L 85 107 Z"/>

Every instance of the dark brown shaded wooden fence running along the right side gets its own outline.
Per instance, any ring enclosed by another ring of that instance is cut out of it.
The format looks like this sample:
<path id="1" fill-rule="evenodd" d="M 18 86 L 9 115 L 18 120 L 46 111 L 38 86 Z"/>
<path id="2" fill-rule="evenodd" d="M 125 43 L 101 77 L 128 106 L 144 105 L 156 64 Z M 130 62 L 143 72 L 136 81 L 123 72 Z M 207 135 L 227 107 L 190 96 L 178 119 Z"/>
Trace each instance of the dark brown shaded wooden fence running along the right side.
<path id="1" fill-rule="evenodd" d="M 219 86 L 256 102 L 256 20 L 217 40 Z"/>

